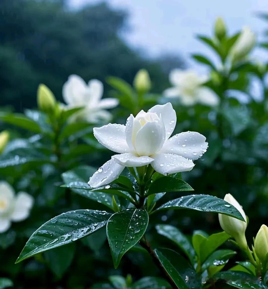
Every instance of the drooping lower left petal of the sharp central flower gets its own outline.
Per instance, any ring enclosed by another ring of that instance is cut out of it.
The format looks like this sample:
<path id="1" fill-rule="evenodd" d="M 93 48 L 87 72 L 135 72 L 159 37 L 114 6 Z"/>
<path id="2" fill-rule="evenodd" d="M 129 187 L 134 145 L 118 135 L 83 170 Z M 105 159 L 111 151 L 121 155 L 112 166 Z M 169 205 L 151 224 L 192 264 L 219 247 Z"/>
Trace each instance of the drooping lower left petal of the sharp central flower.
<path id="1" fill-rule="evenodd" d="M 114 159 L 108 160 L 93 174 L 88 184 L 93 188 L 110 184 L 119 177 L 124 168 L 125 166 L 117 164 Z"/>

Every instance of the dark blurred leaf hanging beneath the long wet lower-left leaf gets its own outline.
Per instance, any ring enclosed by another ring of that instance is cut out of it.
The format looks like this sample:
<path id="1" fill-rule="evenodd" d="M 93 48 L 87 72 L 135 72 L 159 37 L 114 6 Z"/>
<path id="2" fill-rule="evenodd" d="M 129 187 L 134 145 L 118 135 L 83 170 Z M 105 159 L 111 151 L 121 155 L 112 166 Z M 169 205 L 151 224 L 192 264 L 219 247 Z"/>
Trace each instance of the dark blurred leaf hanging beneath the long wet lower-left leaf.
<path id="1" fill-rule="evenodd" d="M 63 247 L 54 248 L 44 253 L 49 268 L 58 278 L 61 278 L 69 268 L 74 255 L 75 243 L 69 243 Z"/>

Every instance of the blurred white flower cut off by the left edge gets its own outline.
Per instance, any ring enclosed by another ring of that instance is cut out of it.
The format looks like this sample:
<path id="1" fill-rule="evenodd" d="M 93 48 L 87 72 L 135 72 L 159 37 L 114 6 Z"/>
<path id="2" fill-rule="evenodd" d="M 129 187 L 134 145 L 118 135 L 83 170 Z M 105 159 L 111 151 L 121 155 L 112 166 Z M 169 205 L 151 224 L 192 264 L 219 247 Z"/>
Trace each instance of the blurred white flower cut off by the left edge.
<path id="1" fill-rule="evenodd" d="M 15 191 L 5 181 L 0 182 L 0 233 L 9 229 L 11 222 L 20 222 L 29 217 L 34 198 L 25 193 Z"/>

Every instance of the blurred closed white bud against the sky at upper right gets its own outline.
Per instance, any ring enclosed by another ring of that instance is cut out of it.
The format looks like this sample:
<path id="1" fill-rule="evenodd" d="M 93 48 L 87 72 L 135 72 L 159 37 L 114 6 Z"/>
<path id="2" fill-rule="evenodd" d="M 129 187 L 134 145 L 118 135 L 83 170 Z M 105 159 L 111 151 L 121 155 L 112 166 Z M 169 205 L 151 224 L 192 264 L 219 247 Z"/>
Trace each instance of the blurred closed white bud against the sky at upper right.
<path id="1" fill-rule="evenodd" d="M 241 60 L 253 49 L 256 36 L 249 27 L 244 27 L 230 51 L 233 60 Z"/>

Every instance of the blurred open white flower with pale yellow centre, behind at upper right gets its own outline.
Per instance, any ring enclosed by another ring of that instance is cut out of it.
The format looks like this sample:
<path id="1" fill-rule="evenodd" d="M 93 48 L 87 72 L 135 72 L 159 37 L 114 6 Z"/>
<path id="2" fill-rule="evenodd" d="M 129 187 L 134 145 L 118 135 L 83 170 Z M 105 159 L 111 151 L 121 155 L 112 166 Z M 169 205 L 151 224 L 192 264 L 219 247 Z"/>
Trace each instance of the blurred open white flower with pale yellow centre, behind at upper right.
<path id="1" fill-rule="evenodd" d="M 219 104 L 218 95 L 210 88 L 203 86 L 207 76 L 198 76 L 195 71 L 174 69 L 169 74 L 173 87 L 164 91 L 165 97 L 178 97 L 183 105 L 202 103 L 208 106 Z"/>

